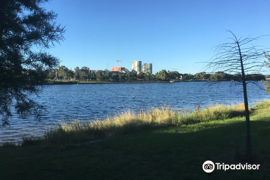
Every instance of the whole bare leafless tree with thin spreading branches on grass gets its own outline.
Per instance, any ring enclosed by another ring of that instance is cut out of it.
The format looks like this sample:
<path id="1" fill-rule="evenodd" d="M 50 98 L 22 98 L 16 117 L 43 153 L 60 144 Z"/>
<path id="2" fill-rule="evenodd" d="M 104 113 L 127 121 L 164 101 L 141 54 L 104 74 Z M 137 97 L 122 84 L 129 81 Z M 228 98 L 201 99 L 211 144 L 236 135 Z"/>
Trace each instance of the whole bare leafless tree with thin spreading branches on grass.
<path id="1" fill-rule="evenodd" d="M 232 38 L 227 38 L 228 43 L 220 44 L 214 47 L 215 55 L 207 62 L 204 62 L 204 71 L 210 70 L 209 73 L 240 73 L 239 78 L 235 76 L 225 76 L 223 79 L 215 82 L 207 83 L 207 88 L 213 84 L 221 81 L 231 80 L 230 86 L 242 85 L 244 93 L 244 105 L 245 105 L 245 116 L 246 116 L 246 160 L 252 160 L 251 151 L 251 134 L 250 134 L 250 119 L 247 101 L 247 84 L 253 83 L 259 88 L 262 88 L 257 81 L 247 81 L 249 76 L 254 74 L 267 76 L 269 69 L 264 61 L 265 53 L 268 53 L 268 48 L 263 46 L 254 46 L 253 42 L 260 39 L 262 36 L 257 38 L 246 38 L 241 37 L 237 39 L 236 36 L 231 32 Z M 241 76 L 240 76 L 241 75 Z"/>

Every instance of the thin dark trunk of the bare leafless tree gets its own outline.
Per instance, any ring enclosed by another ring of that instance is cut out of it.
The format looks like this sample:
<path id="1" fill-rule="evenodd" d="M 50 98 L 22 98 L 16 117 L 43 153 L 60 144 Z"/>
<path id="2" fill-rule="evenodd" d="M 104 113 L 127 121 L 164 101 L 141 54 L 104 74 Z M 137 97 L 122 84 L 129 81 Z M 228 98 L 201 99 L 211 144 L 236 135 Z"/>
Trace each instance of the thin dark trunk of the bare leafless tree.
<path id="1" fill-rule="evenodd" d="M 244 104 L 245 104 L 245 115 L 246 115 L 246 160 L 250 162 L 252 161 L 252 151 L 251 151 L 250 119 L 249 119 L 249 110 L 248 110 L 248 102 L 247 102 L 247 84 L 246 84 L 243 59 L 242 59 L 239 44 L 238 44 L 238 49 L 239 49 L 239 54 L 240 54 L 240 62 L 241 62 L 241 70 L 242 70 L 242 82 L 243 82 Z"/>

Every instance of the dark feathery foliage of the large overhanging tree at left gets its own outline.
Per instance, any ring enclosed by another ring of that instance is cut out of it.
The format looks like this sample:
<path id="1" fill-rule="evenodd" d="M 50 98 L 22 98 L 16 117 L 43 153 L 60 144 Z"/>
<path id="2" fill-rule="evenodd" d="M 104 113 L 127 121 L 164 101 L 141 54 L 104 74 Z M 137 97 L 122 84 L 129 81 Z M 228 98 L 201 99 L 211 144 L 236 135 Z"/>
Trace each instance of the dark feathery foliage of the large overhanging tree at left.
<path id="1" fill-rule="evenodd" d="M 46 0 L 4 0 L 0 6 L 0 119 L 9 125 L 14 114 L 40 119 L 45 107 L 38 95 L 46 82 L 45 70 L 59 66 L 59 59 L 47 49 L 60 43 L 65 28 L 56 24 L 57 14 L 46 11 Z M 33 48 L 33 47 L 38 48 Z M 33 96 L 32 96 L 33 97 Z"/>

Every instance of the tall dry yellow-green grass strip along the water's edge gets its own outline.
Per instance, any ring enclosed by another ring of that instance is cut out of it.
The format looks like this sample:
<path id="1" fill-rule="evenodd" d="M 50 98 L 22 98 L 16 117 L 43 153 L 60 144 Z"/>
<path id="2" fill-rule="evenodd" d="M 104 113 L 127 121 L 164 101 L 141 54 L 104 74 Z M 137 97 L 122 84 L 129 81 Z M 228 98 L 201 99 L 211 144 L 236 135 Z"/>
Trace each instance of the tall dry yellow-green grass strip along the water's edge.
<path id="1" fill-rule="evenodd" d="M 146 111 L 141 110 L 139 113 L 127 110 L 104 120 L 62 123 L 57 128 L 46 131 L 43 138 L 39 140 L 24 137 L 23 144 L 36 144 L 37 142 L 49 144 L 80 143 L 92 140 L 95 137 L 110 136 L 116 133 L 126 134 L 160 127 L 244 116 L 244 104 L 210 106 L 203 110 L 200 109 L 198 104 L 195 108 L 196 110 L 193 110 L 193 112 L 186 112 L 184 110 L 172 110 L 169 106 L 162 106 L 161 108 L 151 108 Z"/>

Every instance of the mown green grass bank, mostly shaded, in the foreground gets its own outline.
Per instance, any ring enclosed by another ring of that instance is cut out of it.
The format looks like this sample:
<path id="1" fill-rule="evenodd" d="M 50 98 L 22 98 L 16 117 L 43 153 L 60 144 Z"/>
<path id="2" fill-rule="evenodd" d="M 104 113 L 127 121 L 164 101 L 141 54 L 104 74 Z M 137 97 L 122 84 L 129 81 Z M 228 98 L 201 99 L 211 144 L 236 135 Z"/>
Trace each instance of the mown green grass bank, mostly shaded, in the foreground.
<path id="1" fill-rule="evenodd" d="M 270 101 L 257 105 L 250 116 L 254 164 L 260 164 L 259 170 L 214 170 L 205 173 L 202 164 L 206 160 L 225 164 L 243 163 L 245 118 L 241 112 L 221 113 L 219 116 L 215 115 L 218 112 L 213 116 L 200 113 L 187 115 L 192 118 L 179 120 L 179 123 L 156 117 L 156 125 L 131 128 L 132 131 L 120 128 L 123 131 L 96 135 L 94 137 L 104 140 L 90 145 L 66 143 L 65 146 L 48 146 L 33 143 L 35 146 L 3 146 L 0 148 L 1 179 L 270 178 Z M 144 125 L 146 120 L 140 123 Z M 123 121 L 128 122 L 119 120 L 119 124 Z M 74 131 L 74 127 L 69 128 L 70 132 Z"/>

